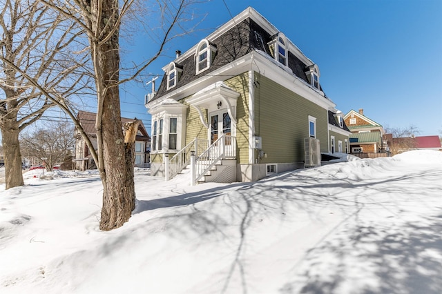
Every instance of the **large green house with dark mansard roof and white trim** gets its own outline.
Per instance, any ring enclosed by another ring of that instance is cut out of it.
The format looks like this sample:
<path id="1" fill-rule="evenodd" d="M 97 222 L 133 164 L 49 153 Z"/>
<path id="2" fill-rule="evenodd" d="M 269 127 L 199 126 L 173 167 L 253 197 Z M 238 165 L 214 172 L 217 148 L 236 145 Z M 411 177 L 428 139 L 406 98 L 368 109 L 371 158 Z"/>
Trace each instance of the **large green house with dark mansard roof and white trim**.
<path id="1" fill-rule="evenodd" d="M 189 166 L 191 184 L 250 182 L 345 152 L 350 133 L 318 65 L 253 8 L 177 50 L 163 70 L 146 95 L 151 175 L 170 179 Z"/>

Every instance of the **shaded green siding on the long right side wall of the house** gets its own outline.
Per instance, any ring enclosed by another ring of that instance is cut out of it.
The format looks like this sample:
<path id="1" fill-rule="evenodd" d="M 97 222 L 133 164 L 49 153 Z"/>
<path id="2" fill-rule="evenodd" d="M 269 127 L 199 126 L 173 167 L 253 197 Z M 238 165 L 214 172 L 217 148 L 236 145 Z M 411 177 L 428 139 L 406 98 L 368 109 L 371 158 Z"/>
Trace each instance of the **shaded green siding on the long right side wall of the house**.
<path id="1" fill-rule="evenodd" d="M 327 109 L 255 72 L 255 132 L 262 137 L 260 163 L 301 163 L 304 138 L 309 137 L 309 115 L 316 117 L 316 139 L 321 152 L 328 152 Z"/>

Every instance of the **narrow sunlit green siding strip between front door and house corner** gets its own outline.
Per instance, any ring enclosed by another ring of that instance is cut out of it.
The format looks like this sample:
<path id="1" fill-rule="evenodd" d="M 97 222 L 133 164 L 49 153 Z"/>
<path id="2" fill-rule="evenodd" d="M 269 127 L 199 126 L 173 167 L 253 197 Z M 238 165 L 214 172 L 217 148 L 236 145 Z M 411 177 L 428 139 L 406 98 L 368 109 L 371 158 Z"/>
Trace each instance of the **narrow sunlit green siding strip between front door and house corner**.
<path id="1" fill-rule="evenodd" d="M 236 162 L 249 163 L 249 72 L 228 79 L 224 83 L 240 97 L 236 101 Z"/>

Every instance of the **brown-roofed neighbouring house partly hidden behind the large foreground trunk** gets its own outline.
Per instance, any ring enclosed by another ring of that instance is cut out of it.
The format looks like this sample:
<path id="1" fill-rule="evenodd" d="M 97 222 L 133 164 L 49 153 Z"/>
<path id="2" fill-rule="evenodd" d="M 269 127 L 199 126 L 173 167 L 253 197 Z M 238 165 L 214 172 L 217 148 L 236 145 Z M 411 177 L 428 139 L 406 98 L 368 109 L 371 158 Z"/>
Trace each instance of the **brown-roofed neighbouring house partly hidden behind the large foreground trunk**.
<path id="1" fill-rule="evenodd" d="M 93 112 L 79 111 L 77 118 L 79 123 L 84 128 L 90 141 L 97 150 L 97 133 L 95 131 L 95 118 L 97 114 Z M 133 119 L 122 117 L 122 124 L 131 122 Z M 123 129 L 122 129 L 123 131 Z M 86 145 L 83 137 L 79 135 L 78 130 L 75 130 L 75 159 L 73 159 L 74 167 L 79 170 L 86 170 L 91 168 L 97 168 L 92 156 L 90 155 L 89 148 Z M 149 162 L 149 150 L 151 144 L 151 138 L 147 134 L 144 124 L 141 123 L 138 126 L 137 137 L 135 138 L 135 166 L 144 167 L 148 166 Z"/>

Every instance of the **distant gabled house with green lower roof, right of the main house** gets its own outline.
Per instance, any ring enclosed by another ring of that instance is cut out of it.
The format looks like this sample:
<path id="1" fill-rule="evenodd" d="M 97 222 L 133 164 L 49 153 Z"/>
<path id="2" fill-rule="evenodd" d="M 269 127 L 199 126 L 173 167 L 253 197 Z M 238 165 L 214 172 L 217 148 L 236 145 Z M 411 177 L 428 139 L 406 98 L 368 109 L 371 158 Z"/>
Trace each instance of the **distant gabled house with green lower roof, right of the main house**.
<path id="1" fill-rule="evenodd" d="M 345 124 L 352 132 L 350 153 L 385 153 L 387 146 L 383 141 L 383 126 L 364 115 L 364 110 L 350 110 L 344 117 Z"/>

